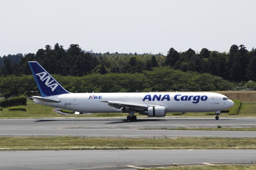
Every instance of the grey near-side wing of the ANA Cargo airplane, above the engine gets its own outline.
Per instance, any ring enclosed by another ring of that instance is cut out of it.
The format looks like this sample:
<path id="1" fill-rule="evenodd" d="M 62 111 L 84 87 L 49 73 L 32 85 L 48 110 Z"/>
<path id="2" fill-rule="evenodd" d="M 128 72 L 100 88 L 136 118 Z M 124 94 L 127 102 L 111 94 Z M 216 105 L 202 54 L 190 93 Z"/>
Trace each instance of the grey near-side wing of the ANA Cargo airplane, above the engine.
<path id="1" fill-rule="evenodd" d="M 148 105 L 148 104 L 139 104 L 139 103 L 128 103 L 128 102 L 119 102 L 119 101 L 110 101 L 110 100 L 101 100 L 100 102 L 108 103 L 110 107 L 117 109 L 121 108 L 131 108 L 134 110 L 145 110 L 150 106 L 160 106 L 160 105 Z"/>

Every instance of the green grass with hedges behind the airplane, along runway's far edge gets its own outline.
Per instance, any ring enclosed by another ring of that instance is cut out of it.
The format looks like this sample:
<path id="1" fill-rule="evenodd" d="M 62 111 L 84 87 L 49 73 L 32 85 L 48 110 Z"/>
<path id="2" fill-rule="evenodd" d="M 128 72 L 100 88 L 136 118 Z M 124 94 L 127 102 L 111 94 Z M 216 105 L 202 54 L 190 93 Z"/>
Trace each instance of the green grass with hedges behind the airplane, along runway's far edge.
<path id="1" fill-rule="evenodd" d="M 239 114 L 238 108 L 240 106 L 240 100 L 234 100 L 234 106 L 230 108 L 230 113 L 222 113 L 221 117 L 256 117 L 256 102 L 243 102 Z M 74 118 L 97 118 L 97 117 L 126 117 L 128 113 L 98 113 L 98 114 L 80 114 L 80 115 L 60 115 L 54 113 L 54 108 L 50 106 L 43 106 L 35 104 L 32 100 L 27 100 L 26 112 L 10 111 L 9 108 L 4 108 L 0 111 L 0 118 L 52 118 L 52 117 L 74 117 Z M 64 110 L 65 112 L 70 112 Z M 146 115 L 135 114 L 139 117 L 146 117 Z M 214 112 L 210 113 L 167 113 L 166 116 L 170 117 L 212 117 L 215 116 Z"/>

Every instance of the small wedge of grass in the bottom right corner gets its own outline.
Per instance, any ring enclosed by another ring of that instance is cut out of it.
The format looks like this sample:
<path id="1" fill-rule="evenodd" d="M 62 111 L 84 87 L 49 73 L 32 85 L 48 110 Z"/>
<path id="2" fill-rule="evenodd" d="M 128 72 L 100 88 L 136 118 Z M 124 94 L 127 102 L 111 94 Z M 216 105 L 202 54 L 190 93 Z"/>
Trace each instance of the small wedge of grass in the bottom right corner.
<path id="1" fill-rule="evenodd" d="M 256 165 L 194 165 L 150 168 L 148 170 L 256 170 Z"/>

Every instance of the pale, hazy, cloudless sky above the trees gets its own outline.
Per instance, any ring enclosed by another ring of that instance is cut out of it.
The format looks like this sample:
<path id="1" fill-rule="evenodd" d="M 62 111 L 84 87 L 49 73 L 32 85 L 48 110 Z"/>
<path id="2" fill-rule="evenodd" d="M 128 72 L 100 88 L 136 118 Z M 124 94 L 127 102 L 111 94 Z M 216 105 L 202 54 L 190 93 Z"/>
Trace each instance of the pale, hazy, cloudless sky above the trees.
<path id="1" fill-rule="evenodd" d="M 167 54 L 256 47 L 255 0 L 0 0 L 0 56 L 59 43 Z"/>

